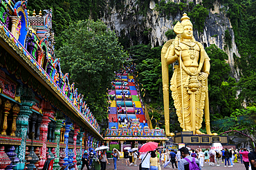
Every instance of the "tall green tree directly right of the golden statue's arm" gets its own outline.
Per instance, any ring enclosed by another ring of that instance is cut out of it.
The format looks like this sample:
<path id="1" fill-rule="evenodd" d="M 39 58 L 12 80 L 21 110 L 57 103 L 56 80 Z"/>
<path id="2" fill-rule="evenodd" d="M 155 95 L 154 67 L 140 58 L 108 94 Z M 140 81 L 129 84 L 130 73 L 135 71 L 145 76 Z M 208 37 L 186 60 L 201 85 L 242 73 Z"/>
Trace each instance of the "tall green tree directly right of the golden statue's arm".
<path id="1" fill-rule="evenodd" d="M 210 75 L 208 77 L 209 101 L 212 120 L 230 116 L 239 108 L 236 99 L 236 81 L 230 77 L 230 66 L 226 63 L 228 55 L 216 45 L 206 47 L 210 57 Z"/>

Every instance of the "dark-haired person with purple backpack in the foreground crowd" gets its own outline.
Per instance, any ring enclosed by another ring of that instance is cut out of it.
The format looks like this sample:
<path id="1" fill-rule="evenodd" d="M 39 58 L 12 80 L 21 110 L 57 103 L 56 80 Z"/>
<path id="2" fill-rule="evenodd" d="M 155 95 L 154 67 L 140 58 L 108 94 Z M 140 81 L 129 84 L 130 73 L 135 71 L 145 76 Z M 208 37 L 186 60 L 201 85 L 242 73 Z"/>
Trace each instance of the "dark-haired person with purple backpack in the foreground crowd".
<path id="1" fill-rule="evenodd" d="M 180 149 L 180 151 L 181 151 L 181 156 L 182 156 L 182 158 L 183 159 L 181 159 L 181 161 L 180 161 L 180 170 L 190 170 L 190 168 L 189 168 L 189 162 L 188 162 L 188 160 L 190 160 L 190 162 L 192 162 L 193 160 L 194 160 L 194 162 L 196 163 L 196 165 L 197 165 L 197 167 L 199 167 L 199 169 L 201 170 L 202 168 L 201 168 L 201 165 L 199 164 L 199 160 L 198 159 L 196 159 L 196 158 L 192 158 L 191 156 L 190 156 L 190 153 L 189 153 L 189 151 L 188 151 L 188 148 L 186 148 L 186 147 L 182 147 L 181 149 Z M 186 160 L 186 159 L 188 159 L 188 160 Z"/>

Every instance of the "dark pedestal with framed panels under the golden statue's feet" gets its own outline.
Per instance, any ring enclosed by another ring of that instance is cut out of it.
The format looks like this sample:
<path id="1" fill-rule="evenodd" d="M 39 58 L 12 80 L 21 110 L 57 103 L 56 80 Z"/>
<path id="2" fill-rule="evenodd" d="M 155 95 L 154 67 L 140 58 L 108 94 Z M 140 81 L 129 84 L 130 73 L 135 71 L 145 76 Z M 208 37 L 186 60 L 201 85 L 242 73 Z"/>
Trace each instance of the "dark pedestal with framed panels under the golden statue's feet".
<path id="1" fill-rule="evenodd" d="M 176 132 L 175 143 L 185 143 L 186 147 L 210 149 L 212 142 L 221 142 L 221 145 L 228 145 L 228 136 L 197 135 L 193 131 Z"/>

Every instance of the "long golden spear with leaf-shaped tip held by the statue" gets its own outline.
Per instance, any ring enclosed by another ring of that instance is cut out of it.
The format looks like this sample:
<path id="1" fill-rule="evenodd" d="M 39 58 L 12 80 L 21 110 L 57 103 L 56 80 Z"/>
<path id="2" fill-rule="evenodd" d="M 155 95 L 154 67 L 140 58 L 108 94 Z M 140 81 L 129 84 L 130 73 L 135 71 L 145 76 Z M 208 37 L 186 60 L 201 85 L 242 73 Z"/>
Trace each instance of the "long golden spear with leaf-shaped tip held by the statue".
<path id="1" fill-rule="evenodd" d="M 179 45 L 181 43 L 181 34 L 184 32 L 183 25 L 178 21 L 176 25 L 174 26 L 174 32 L 177 34 L 178 39 L 179 39 Z M 184 120 L 184 103 L 183 103 L 183 82 L 182 82 L 182 67 L 181 67 L 181 49 L 179 49 L 180 55 L 179 55 L 179 65 L 181 69 L 181 104 L 182 104 L 182 118 L 183 118 L 183 130 L 185 130 L 185 120 Z"/>

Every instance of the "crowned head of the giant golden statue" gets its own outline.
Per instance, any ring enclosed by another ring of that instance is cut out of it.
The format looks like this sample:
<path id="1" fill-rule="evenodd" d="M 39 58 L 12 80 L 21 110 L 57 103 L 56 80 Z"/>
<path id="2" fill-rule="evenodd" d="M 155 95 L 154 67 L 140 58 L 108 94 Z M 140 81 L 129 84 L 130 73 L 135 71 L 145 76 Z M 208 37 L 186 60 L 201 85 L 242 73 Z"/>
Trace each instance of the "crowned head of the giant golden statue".
<path id="1" fill-rule="evenodd" d="M 181 18 L 181 25 L 183 25 L 184 28 L 184 32 L 181 36 L 185 39 L 192 39 L 193 25 L 190 21 L 190 17 L 188 17 L 186 13 L 184 13 L 183 17 Z"/>

